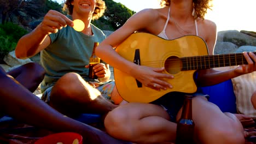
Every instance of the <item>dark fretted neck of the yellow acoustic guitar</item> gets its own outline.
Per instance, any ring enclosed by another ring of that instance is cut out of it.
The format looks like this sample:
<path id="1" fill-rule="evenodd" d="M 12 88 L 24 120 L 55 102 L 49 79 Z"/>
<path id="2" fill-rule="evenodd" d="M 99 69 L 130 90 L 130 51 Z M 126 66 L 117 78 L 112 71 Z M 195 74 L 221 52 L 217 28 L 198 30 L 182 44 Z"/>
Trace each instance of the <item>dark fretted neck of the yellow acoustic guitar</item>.
<path id="1" fill-rule="evenodd" d="M 256 52 L 253 52 L 256 54 Z M 183 57 L 182 70 L 209 69 L 229 67 L 233 65 L 248 64 L 243 53 L 230 53 L 224 55 Z"/>

